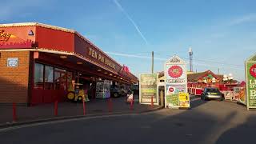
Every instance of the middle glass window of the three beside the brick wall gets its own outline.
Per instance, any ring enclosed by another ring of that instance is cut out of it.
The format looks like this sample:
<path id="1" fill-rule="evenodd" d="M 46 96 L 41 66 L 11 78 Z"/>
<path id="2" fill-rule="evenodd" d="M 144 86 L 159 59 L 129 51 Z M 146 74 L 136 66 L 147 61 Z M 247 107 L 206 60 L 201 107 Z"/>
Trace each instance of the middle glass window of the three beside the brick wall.
<path id="1" fill-rule="evenodd" d="M 45 66 L 45 90 L 54 89 L 54 67 Z"/>

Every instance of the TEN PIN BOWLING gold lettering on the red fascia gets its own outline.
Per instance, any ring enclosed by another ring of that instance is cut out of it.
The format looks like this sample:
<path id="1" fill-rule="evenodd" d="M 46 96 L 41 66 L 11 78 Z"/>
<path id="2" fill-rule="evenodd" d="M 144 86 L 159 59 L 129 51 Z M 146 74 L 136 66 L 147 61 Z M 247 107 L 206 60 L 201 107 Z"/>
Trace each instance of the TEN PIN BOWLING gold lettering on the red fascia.
<path id="1" fill-rule="evenodd" d="M 114 62 L 110 61 L 109 58 L 106 58 L 104 55 L 99 54 L 96 50 L 93 50 L 90 47 L 89 47 L 89 56 L 94 59 L 97 59 L 99 62 L 106 64 L 106 66 L 110 66 L 111 68 L 116 69 L 116 65 Z"/>

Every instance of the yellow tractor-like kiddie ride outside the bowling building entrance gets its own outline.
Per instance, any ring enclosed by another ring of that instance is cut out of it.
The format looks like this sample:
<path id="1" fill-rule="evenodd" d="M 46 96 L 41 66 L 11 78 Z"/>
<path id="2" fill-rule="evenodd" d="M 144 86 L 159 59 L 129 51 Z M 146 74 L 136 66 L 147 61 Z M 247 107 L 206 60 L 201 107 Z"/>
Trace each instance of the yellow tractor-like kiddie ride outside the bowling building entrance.
<path id="1" fill-rule="evenodd" d="M 86 94 L 85 90 L 81 88 L 81 83 L 75 83 L 74 87 L 72 84 L 70 84 L 68 93 L 66 94 L 66 98 L 68 98 L 70 102 L 82 102 L 82 100 L 84 100 L 84 102 L 90 101 L 88 94 Z"/>

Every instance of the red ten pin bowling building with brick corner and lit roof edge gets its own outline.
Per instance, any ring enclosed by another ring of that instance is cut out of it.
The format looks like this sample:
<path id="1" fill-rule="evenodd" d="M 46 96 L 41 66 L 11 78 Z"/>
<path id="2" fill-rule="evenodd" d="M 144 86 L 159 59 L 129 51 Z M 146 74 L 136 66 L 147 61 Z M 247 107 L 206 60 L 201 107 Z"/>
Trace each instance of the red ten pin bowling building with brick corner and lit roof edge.
<path id="1" fill-rule="evenodd" d="M 98 82 L 138 82 L 126 66 L 74 30 L 40 23 L 0 25 L 0 30 L 0 103 L 64 102 L 75 86 L 97 98 Z"/>

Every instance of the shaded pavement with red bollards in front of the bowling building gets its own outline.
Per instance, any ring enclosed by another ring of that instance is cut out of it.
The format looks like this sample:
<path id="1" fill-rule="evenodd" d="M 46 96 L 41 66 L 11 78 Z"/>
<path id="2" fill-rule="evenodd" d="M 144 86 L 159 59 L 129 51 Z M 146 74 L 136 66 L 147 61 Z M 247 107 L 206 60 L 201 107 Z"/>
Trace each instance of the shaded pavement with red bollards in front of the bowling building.
<path id="1" fill-rule="evenodd" d="M 138 96 L 134 96 L 133 110 L 126 98 L 91 99 L 86 102 L 86 116 L 106 115 L 106 114 L 129 114 L 143 113 L 150 110 L 161 109 L 161 106 L 140 105 Z M 44 122 L 65 118 L 83 117 L 82 103 L 60 102 L 58 103 L 58 116 L 54 116 L 54 103 L 42 104 L 39 106 L 17 106 L 17 122 L 13 121 L 13 107 L 0 106 L 0 127 L 18 125 L 29 122 Z"/>

